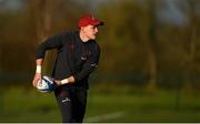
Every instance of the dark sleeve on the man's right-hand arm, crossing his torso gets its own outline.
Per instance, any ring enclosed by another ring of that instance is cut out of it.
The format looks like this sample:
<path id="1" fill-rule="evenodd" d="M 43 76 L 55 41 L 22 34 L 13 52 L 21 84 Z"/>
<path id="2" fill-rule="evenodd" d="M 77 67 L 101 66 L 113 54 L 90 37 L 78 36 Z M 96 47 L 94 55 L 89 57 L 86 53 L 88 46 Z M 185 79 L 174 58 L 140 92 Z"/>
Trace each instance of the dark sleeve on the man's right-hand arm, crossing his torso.
<path id="1" fill-rule="evenodd" d="M 93 53 L 83 64 L 82 70 L 73 75 L 76 82 L 79 82 L 80 80 L 84 79 L 97 69 L 99 58 L 100 58 L 100 48 L 99 45 L 96 45 Z"/>

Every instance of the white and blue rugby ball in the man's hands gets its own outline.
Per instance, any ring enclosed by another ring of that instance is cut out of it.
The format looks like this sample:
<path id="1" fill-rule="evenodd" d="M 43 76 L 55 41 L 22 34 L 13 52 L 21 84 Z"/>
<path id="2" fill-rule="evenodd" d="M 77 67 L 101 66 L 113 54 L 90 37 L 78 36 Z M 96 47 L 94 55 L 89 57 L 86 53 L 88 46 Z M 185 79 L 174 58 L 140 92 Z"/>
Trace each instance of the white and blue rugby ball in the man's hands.
<path id="1" fill-rule="evenodd" d="M 52 78 L 43 75 L 42 80 L 38 82 L 37 90 L 40 92 L 52 92 L 54 90 Z"/>

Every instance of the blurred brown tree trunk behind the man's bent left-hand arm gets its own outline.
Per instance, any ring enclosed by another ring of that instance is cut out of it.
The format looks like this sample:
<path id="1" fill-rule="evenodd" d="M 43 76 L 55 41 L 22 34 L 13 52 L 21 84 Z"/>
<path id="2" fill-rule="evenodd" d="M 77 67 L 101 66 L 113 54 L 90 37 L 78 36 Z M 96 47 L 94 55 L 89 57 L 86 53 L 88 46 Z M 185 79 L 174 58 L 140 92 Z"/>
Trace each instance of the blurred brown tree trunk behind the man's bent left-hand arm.
<path id="1" fill-rule="evenodd" d="M 33 0 L 36 32 L 38 43 L 43 42 L 52 32 L 53 11 L 57 7 L 56 0 Z M 53 63 L 53 51 L 46 53 L 42 72 L 50 72 Z"/>

